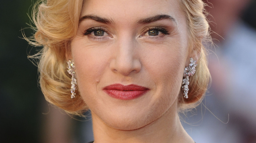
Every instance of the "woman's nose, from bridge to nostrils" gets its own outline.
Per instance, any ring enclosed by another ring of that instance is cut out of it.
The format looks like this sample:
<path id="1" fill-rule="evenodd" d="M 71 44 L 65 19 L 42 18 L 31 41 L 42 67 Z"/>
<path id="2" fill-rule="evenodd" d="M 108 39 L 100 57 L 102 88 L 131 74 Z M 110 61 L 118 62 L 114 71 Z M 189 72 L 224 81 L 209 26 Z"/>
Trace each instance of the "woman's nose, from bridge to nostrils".
<path id="1" fill-rule="evenodd" d="M 119 40 L 113 49 L 114 58 L 110 62 L 113 72 L 128 76 L 141 70 L 139 49 L 134 40 Z"/>

